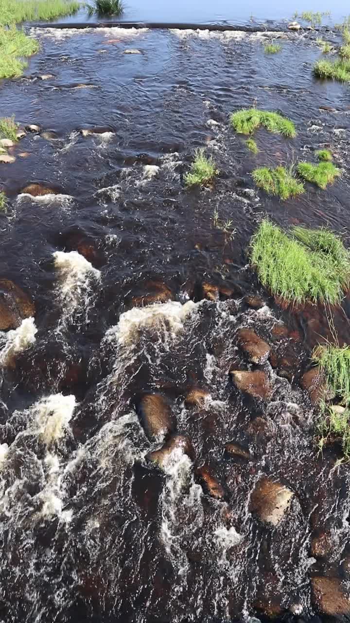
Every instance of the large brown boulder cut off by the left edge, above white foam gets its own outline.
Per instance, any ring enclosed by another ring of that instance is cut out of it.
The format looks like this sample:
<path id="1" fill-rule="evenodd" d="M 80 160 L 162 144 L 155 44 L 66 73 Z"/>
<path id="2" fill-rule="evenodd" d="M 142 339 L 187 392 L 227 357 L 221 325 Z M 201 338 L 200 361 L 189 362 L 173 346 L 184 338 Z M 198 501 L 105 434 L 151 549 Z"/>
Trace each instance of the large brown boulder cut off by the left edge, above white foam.
<path id="1" fill-rule="evenodd" d="M 16 329 L 24 318 L 34 316 L 34 303 L 13 281 L 0 279 L 0 330 Z"/>

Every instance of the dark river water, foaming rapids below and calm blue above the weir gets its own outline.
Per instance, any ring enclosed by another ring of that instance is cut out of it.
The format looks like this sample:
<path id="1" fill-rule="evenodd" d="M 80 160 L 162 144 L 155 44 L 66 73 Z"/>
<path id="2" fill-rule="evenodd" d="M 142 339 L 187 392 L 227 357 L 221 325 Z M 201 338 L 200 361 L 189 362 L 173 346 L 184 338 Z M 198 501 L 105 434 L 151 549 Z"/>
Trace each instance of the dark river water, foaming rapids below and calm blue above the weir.
<path id="1" fill-rule="evenodd" d="M 339 1 L 315 8 L 346 12 Z M 128 19 L 278 21 L 295 9 L 134 4 Z M 1 114 L 40 128 L 0 165 L 0 277 L 35 305 L 34 320 L 16 316 L 0 332 L 0 621 L 346 614 L 349 467 L 334 445 L 318 455 L 317 411 L 300 384 L 329 337 L 326 313 L 283 312 L 247 247 L 266 213 L 283 227 L 328 224 L 349 245 L 349 86 L 313 78 L 321 52 L 309 31 L 274 34 L 282 50 L 271 57 L 268 33 L 31 33 L 41 51 L 23 78 L 0 85 Z M 339 45 L 336 32 L 326 38 Z M 261 130 L 260 152 L 248 152 L 229 114 L 253 103 L 288 115 L 296 138 Z M 219 175 L 189 191 L 199 146 Z M 256 192 L 258 164 L 309 159 L 321 146 L 343 171 L 334 186 L 308 185 L 286 202 Z M 57 194 L 34 197 L 29 184 Z M 232 221 L 231 237 L 214 214 Z M 334 317 L 346 342 L 349 316 L 346 298 Z M 242 327 L 269 345 L 261 366 L 238 347 Z M 269 379 L 263 398 L 229 374 L 257 367 Z M 188 396 L 193 388 L 206 397 Z M 149 455 L 174 433 L 186 439 L 161 469 Z M 293 494 L 277 525 L 252 510 L 263 478 Z"/>

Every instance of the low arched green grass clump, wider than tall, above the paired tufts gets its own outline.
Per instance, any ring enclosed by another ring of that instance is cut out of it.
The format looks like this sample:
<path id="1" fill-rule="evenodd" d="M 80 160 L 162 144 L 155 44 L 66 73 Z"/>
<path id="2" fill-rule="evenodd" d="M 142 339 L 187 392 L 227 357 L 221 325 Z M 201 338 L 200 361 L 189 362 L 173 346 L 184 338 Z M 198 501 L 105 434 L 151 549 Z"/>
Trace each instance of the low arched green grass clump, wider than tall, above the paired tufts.
<path id="1" fill-rule="evenodd" d="M 293 121 L 282 117 L 278 113 L 268 112 L 267 110 L 257 110 L 257 108 L 242 108 L 232 113 L 231 125 L 240 134 L 252 134 L 257 128 L 263 126 L 268 131 L 293 138 L 296 136 Z"/>

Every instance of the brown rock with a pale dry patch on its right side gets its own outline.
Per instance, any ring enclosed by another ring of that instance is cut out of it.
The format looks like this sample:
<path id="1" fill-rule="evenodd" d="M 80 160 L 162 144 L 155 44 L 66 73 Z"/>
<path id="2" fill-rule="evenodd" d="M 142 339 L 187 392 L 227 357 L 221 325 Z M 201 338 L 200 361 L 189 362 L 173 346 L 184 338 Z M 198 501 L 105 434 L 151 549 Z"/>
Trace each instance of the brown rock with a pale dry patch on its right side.
<path id="1" fill-rule="evenodd" d="M 249 510 L 261 521 L 277 526 L 285 516 L 293 495 L 282 483 L 263 477 L 250 497 Z"/>

